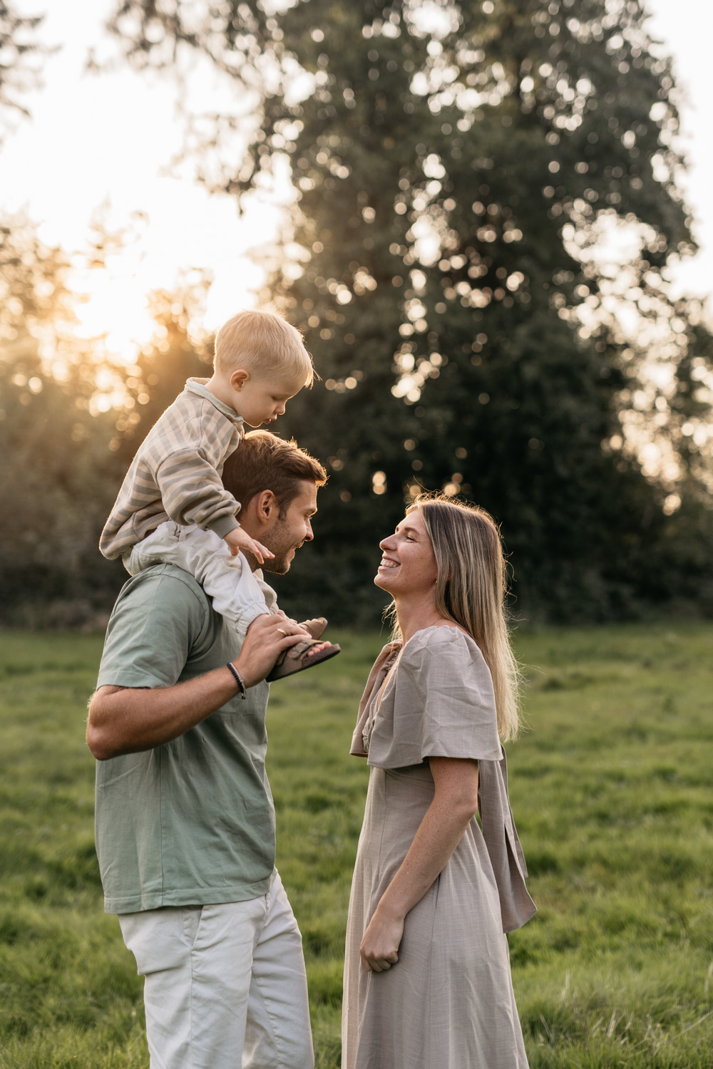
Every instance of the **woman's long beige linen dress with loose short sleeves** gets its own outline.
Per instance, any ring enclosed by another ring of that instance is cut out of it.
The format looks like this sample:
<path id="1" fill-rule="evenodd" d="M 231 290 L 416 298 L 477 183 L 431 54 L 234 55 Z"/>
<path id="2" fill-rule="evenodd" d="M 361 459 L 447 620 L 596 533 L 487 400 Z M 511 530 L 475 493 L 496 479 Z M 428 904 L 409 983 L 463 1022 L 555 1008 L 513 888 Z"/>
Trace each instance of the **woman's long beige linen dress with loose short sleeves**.
<path id="1" fill-rule="evenodd" d="M 389 673 L 389 669 L 393 670 Z M 378 692 L 384 683 L 378 702 Z M 508 802 L 493 682 L 476 642 L 425 628 L 376 660 L 352 754 L 371 766 L 344 965 L 343 1069 L 526 1069 L 505 931 L 534 913 Z M 430 757 L 478 760 L 474 817 L 406 916 L 399 961 L 360 967 L 359 944 L 434 794 Z"/>

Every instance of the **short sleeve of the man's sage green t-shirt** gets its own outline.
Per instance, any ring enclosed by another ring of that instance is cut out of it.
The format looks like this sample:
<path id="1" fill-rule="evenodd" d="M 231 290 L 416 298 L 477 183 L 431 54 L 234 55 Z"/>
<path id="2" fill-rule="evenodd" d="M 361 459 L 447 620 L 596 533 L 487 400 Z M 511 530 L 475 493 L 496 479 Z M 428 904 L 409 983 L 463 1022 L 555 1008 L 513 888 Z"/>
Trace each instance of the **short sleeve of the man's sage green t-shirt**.
<path id="1" fill-rule="evenodd" d="M 157 566 L 123 588 L 109 620 L 97 686 L 173 686 L 208 630 L 196 580 Z"/>

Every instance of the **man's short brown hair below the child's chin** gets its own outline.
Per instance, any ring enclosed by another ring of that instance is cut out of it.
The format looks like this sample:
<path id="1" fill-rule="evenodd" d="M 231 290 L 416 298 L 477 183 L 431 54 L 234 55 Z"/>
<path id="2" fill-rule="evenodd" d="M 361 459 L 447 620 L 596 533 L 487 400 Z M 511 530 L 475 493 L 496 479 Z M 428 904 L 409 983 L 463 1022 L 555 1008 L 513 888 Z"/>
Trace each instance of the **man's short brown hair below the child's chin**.
<path id="1" fill-rule="evenodd" d="M 327 472 L 319 461 L 299 449 L 293 439 L 285 441 L 269 431 L 250 431 L 224 463 L 222 483 L 245 508 L 255 494 L 272 490 L 280 515 L 297 497 L 301 482 L 323 486 Z"/>

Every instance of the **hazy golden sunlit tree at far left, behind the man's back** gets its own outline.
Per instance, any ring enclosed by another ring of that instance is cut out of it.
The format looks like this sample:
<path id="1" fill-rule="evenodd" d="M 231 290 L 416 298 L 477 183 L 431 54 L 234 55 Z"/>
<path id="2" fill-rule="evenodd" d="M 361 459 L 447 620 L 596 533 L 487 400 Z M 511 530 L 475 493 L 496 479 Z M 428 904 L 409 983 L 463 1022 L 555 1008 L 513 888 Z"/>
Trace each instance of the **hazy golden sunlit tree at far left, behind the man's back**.
<path id="1" fill-rule="evenodd" d="M 91 409 L 92 347 L 62 329 L 68 270 L 27 220 L 0 226 L 0 604 L 5 620 L 34 606 L 25 615 L 44 625 L 88 618 L 120 579 L 96 548 L 115 463 Z"/>

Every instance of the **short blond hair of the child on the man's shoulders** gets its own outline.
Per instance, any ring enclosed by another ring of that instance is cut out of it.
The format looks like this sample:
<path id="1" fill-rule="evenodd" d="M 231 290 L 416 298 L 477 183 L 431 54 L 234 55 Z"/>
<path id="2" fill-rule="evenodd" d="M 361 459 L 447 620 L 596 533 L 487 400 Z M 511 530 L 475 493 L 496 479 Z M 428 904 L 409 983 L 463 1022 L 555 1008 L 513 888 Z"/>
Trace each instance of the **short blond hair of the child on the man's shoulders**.
<path id="1" fill-rule="evenodd" d="M 312 358 L 299 330 L 270 309 L 238 312 L 223 323 L 216 335 L 213 366 L 224 375 L 245 368 L 259 378 L 288 372 L 305 386 L 311 386 L 314 378 Z"/>

